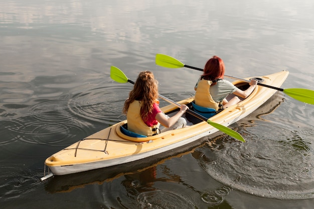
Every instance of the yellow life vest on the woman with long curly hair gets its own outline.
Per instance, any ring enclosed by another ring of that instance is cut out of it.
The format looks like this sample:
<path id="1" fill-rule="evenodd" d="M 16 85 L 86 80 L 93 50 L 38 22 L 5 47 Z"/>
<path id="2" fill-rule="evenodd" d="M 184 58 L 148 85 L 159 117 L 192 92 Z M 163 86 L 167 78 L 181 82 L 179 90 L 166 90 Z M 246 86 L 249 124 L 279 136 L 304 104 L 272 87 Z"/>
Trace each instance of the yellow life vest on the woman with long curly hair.
<path id="1" fill-rule="evenodd" d="M 140 116 L 140 101 L 135 100 L 132 102 L 127 110 L 127 129 L 134 133 L 145 136 L 152 136 L 158 134 L 160 123 L 153 127 L 147 126 Z"/>

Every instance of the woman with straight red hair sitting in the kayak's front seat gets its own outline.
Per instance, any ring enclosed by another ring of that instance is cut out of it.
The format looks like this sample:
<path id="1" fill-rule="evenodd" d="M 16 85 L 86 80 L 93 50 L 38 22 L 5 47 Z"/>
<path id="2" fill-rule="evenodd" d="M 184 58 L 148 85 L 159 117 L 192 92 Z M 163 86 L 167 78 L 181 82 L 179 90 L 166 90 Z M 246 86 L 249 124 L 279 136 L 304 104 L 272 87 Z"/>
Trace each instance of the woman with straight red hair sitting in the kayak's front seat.
<path id="1" fill-rule="evenodd" d="M 238 89 L 231 82 L 224 80 L 225 64 L 218 56 L 213 56 L 205 65 L 204 73 L 198 80 L 194 89 L 195 104 L 216 109 L 216 111 L 240 102 L 239 97 L 248 97 L 256 87 L 257 81 L 252 79 L 250 87 L 245 91 Z M 229 101 L 226 97 L 229 94 L 235 94 Z"/>

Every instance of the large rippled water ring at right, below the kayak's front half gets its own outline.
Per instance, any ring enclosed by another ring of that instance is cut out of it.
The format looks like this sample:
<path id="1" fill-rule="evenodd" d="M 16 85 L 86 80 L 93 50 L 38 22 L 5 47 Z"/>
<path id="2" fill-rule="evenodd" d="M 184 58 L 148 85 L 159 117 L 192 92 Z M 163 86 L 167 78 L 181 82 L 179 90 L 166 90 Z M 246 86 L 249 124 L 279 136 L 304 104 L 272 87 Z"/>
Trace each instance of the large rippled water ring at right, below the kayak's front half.
<path id="1" fill-rule="evenodd" d="M 214 179 L 243 192 L 276 199 L 314 198 L 312 136 L 304 132 L 311 131 L 251 127 L 249 134 L 243 133 L 245 143 L 212 145 L 203 150 L 200 163 Z"/>

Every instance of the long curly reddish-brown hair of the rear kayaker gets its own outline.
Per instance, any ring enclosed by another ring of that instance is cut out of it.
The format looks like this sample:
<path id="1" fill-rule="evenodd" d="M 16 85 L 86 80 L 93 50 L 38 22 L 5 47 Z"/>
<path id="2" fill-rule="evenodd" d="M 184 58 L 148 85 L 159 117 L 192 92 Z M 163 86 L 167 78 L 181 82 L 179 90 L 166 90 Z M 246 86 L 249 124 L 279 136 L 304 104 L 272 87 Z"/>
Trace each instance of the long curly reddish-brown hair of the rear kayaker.
<path id="1" fill-rule="evenodd" d="M 129 98 L 125 100 L 123 113 L 126 114 L 130 104 L 134 100 L 141 103 L 140 116 L 145 121 L 148 113 L 152 112 L 152 105 L 158 99 L 158 81 L 154 79 L 150 71 L 142 71 L 138 74 L 133 90 Z"/>

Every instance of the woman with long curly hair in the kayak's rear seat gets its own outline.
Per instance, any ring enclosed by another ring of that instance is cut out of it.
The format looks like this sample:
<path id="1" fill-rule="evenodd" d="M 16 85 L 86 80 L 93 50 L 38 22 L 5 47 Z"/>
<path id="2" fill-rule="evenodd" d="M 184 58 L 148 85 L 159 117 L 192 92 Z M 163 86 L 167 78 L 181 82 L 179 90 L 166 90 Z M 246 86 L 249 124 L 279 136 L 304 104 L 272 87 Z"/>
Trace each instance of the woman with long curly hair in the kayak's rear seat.
<path id="1" fill-rule="evenodd" d="M 161 131 L 183 128 L 187 121 L 181 117 L 188 107 L 181 105 L 172 117 L 167 116 L 159 107 L 158 81 L 150 71 L 140 72 L 129 98 L 124 103 L 123 113 L 127 117 L 127 129 L 141 135 L 152 136 Z"/>

